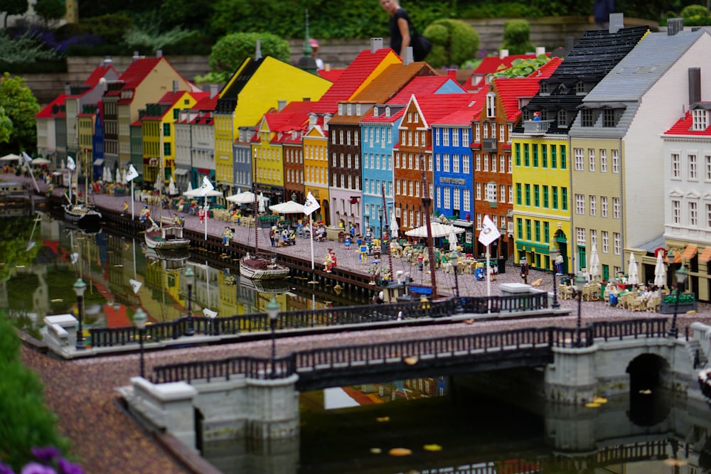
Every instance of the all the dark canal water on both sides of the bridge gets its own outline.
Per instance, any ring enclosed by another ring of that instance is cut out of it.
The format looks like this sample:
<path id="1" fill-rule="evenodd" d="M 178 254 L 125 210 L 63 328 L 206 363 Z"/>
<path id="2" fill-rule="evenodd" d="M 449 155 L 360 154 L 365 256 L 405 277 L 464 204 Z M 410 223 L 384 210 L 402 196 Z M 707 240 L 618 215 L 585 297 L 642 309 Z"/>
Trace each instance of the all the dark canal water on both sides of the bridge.
<path id="1" fill-rule="evenodd" d="M 87 284 L 90 326 L 129 325 L 138 306 L 152 322 L 179 318 L 186 266 L 196 271 L 193 313 L 264 312 L 272 298 L 282 311 L 368 303 L 294 279 L 255 286 L 240 279 L 237 262 L 161 259 L 142 239 L 86 234 L 49 217 L 2 224 L 0 309 L 35 335 L 45 316 L 75 311 L 77 279 Z M 298 438 L 204 450 L 225 474 L 711 472 L 709 407 L 648 395 L 570 407 L 515 388 L 496 393 L 471 377 L 374 380 L 301 394 Z"/>

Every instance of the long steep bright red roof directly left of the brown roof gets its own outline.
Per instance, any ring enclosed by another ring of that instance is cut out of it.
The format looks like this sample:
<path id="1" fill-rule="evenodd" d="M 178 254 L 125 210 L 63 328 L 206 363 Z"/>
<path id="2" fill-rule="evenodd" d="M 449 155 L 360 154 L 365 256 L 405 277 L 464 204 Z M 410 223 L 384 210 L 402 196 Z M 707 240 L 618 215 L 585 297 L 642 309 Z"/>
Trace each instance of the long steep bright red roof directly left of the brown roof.
<path id="1" fill-rule="evenodd" d="M 370 50 L 360 51 L 353 63 L 343 70 L 338 80 L 316 102 L 313 111 L 317 114 L 335 113 L 338 102 L 350 99 L 390 53 L 394 54 L 390 48 L 380 48 L 375 53 L 370 53 Z"/>

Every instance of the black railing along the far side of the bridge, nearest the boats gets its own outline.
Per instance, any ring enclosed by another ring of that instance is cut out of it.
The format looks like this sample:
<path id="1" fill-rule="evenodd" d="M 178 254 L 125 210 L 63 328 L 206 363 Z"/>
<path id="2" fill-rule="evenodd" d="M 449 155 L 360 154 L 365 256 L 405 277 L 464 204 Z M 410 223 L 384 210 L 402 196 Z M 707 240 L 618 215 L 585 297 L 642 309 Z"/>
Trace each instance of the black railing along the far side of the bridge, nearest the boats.
<path id="1" fill-rule="evenodd" d="M 503 311 L 533 311 L 547 308 L 547 295 L 542 293 L 522 296 L 491 296 L 488 298 L 460 298 L 465 313 L 486 314 Z M 328 328 L 341 325 L 368 325 L 384 321 L 402 319 L 443 318 L 456 311 L 456 301 L 449 298 L 444 301 L 422 303 L 407 301 L 402 303 L 339 306 L 316 310 L 285 311 L 279 313 L 277 329 Z M 188 317 L 174 321 L 146 325 L 146 343 L 178 339 L 188 330 Z M 226 318 L 206 318 L 193 316 L 193 329 L 203 335 L 238 335 L 269 331 L 269 319 L 265 313 L 229 316 Z M 106 348 L 135 344 L 138 332 L 133 326 L 122 328 L 91 328 L 91 345 Z"/>

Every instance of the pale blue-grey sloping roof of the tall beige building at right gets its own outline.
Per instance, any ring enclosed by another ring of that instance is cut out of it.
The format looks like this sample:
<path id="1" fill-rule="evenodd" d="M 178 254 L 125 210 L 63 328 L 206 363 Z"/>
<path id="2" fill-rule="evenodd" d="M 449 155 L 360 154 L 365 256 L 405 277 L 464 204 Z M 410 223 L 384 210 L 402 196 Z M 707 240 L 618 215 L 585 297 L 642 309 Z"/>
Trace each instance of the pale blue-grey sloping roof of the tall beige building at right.
<path id="1" fill-rule="evenodd" d="M 583 102 L 626 102 L 640 99 L 706 31 L 648 33 Z"/>

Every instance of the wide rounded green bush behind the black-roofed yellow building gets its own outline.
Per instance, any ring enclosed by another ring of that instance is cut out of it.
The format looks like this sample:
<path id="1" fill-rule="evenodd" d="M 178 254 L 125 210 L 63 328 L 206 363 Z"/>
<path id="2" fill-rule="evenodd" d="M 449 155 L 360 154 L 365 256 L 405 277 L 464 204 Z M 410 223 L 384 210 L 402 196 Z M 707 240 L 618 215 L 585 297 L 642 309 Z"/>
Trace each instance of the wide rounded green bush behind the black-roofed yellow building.
<path id="1" fill-rule="evenodd" d="M 255 55 L 257 40 L 260 40 L 263 56 L 272 56 L 289 63 L 291 58 L 289 43 L 279 36 L 271 33 L 232 33 L 220 38 L 210 54 L 210 70 L 218 82 L 226 82 L 245 59 Z"/>

